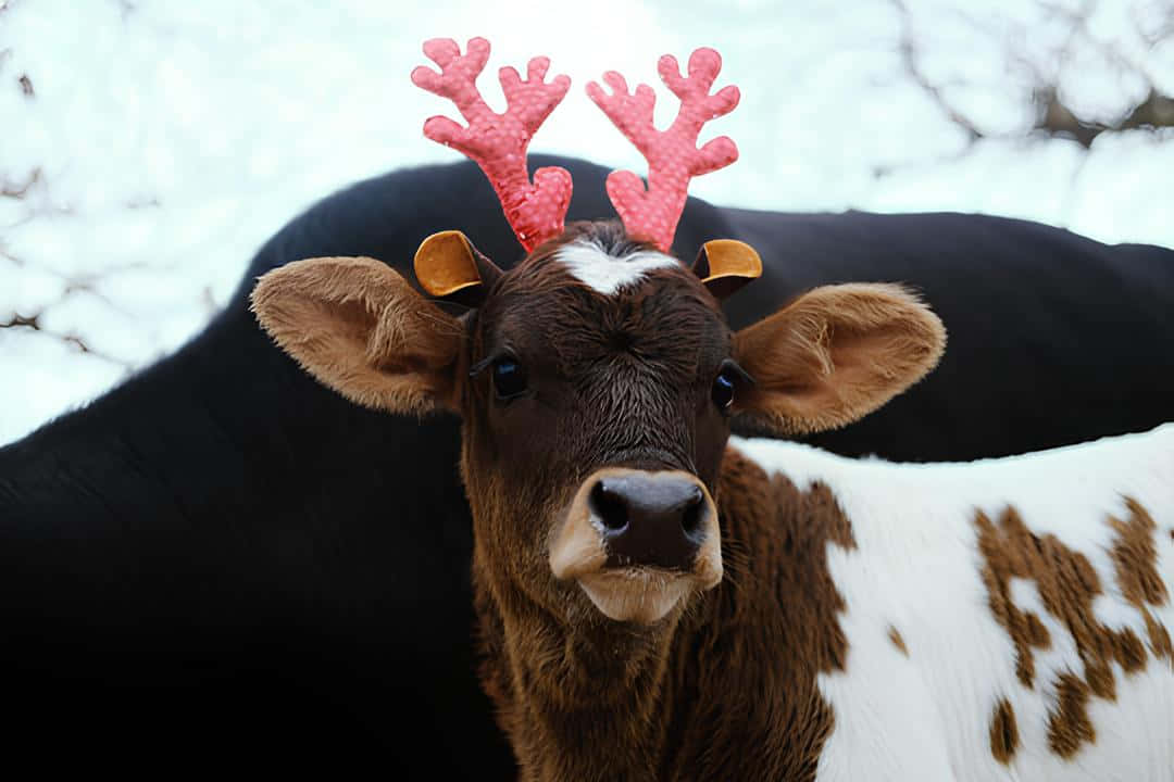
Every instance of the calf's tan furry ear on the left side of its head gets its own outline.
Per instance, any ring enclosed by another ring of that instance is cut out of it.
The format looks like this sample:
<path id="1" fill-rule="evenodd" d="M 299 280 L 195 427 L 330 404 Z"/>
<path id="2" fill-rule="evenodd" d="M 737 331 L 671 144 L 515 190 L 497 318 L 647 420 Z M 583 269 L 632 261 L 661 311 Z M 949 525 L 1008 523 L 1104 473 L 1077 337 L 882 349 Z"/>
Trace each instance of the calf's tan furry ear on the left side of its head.
<path id="1" fill-rule="evenodd" d="M 321 382 L 391 413 L 458 408 L 460 322 L 372 258 L 313 258 L 275 268 L 252 311 Z"/>

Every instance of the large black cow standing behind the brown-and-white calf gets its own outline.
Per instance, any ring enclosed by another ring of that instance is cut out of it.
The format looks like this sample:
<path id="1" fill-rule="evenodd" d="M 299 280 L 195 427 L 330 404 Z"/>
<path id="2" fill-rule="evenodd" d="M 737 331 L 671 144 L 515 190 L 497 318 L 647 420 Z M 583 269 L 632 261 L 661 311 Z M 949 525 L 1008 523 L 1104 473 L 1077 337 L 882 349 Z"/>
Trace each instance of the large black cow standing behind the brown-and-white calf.
<path id="1" fill-rule="evenodd" d="M 606 170 L 569 219 L 612 213 Z M 317 204 L 261 250 L 195 340 L 0 449 L 0 732 L 9 766 L 373 766 L 508 778 L 477 687 L 457 422 L 370 413 L 316 385 L 247 311 L 255 278 L 315 256 L 404 271 L 459 229 L 522 254 L 472 164 L 397 171 Z M 690 200 L 687 259 L 738 238 L 763 280 L 738 327 L 809 286 L 899 280 L 950 329 L 942 366 L 845 454 L 969 460 L 1174 417 L 1174 252 L 964 215 L 778 215 Z"/>

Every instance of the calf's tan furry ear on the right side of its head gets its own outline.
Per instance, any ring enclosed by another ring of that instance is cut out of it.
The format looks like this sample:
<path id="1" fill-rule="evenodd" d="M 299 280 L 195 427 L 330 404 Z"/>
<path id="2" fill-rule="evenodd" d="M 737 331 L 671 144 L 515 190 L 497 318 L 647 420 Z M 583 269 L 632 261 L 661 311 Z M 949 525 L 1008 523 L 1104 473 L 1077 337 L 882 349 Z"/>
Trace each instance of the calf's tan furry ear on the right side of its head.
<path id="1" fill-rule="evenodd" d="M 920 380 L 945 339 L 938 317 L 896 285 L 815 288 L 735 335 L 755 380 L 735 413 L 784 436 L 842 427 Z"/>

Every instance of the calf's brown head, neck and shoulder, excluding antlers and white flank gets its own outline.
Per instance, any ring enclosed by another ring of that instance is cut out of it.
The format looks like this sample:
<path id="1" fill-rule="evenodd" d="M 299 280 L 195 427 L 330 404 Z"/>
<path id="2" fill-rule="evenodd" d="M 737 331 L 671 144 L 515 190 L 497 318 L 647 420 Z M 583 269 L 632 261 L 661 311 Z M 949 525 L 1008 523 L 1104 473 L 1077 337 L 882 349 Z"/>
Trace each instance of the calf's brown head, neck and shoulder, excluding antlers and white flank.
<path id="1" fill-rule="evenodd" d="M 505 273 L 460 234 L 425 242 L 417 274 L 477 307 L 463 318 L 363 258 L 254 292 L 339 393 L 460 414 L 483 678 L 525 778 L 814 774 L 831 725 L 814 676 L 844 648 L 822 548 L 851 530 L 828 496 L 723 458 L 730 420 L 842 426 L 929 372 L 945 335 L 890 285 L 816 288 L 731 333 L 714 292 L 756 264 L 709 243 L 689 271 L 576 224 Z"/>

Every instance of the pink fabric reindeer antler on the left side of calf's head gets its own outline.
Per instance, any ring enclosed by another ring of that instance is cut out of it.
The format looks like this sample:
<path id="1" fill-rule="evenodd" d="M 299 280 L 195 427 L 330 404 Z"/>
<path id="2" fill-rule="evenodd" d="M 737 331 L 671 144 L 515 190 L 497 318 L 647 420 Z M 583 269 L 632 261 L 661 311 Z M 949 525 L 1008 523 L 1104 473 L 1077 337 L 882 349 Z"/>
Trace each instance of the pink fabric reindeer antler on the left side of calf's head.
<path id="1" fill-rule="evenodd" d="M 434 38 L 425 41 L 424 54 L 440 66 L 440 73 L 420 66 L 412 72 L 412 83 L 452 100 L 468 122 L 463 128 L 447 117 L 431 117 L 424 123 L 424 135 L 460 150 L 481 166 L 527 252 L 562 233 L 571 204 L 571 175 L 566 169 L 547 166 L 534 172 L 532 184 L 526 171 L 526 147 L 567 94 L 571 80 L 555 76 L 545 83 L 548 57 L 529 61 L 526 81 L 513 68 L 501 68 L 498 80 L 506 95 L 506 110 L 498 114 L 485 103 L 475 84 L 490 59 L 488 41 L 471 39 L 461 55 L 452 39 Z"/>

